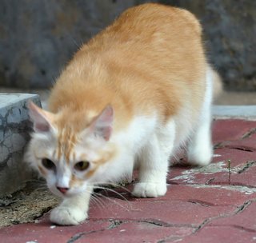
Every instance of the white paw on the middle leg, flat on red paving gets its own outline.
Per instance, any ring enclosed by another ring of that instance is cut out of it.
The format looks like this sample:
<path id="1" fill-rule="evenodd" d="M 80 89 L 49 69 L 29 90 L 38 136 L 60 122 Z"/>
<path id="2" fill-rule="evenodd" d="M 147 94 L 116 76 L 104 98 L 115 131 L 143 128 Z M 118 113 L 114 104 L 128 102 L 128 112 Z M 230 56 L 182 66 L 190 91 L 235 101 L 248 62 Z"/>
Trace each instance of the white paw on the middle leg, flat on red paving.
<path id="1" fill-rule="evenodd" d="M 166 194 L 167 186 L 164 183 L 139 182 L 134 185 L 134 197 L 160 197 Z"/>

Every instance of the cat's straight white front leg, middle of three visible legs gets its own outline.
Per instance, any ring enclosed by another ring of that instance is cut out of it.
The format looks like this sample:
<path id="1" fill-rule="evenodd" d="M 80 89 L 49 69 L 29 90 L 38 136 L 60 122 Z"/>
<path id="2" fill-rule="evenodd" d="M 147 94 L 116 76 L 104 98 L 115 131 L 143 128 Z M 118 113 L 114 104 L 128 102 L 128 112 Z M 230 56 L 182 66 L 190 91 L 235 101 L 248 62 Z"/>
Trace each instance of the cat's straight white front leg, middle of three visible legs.
<path id="1" fill-rule="evenodd" d="M 175 127 L 171 121 L 159 129 L 139 154 L 138 183 L 134 185 L 135 197 L 159 197 L 166 193 L 166 175 L 169 157 L 174 147 Z"/>

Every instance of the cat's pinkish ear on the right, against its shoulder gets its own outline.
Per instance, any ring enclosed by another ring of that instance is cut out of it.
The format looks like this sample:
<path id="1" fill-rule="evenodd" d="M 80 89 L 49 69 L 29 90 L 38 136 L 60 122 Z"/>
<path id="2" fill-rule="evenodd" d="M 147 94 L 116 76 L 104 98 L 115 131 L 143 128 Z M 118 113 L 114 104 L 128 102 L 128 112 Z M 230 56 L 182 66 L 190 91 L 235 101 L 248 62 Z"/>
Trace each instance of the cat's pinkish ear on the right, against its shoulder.
<path id="1" fill-rule="evenodd" d="M 106 141 L 110 139 L 114 121 L 113 107 L 108 105 L 102 110 L 102 113 L 94 119 L 90 125 L 90 132 L 96 136 L 103 137 Z"/>

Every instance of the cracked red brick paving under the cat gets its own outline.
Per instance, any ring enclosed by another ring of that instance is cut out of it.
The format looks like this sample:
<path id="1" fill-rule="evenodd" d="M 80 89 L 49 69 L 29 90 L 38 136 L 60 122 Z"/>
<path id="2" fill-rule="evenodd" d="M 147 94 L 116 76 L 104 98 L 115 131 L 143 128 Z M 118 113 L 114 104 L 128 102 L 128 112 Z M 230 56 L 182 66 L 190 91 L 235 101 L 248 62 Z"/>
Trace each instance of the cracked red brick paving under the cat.
<path id="1" fill-rule="evenodd" d="M 82 225 L 52 225 L 45 213 L 33 223 L 0 229 L 1 242 L 256 242 L 256 122 L 214 121 L 213 134 L 213 163 L 171 165 L 166 196 L 130 197 L 132 185 L 116 189 L 119 195 L 102 192 Z"/>

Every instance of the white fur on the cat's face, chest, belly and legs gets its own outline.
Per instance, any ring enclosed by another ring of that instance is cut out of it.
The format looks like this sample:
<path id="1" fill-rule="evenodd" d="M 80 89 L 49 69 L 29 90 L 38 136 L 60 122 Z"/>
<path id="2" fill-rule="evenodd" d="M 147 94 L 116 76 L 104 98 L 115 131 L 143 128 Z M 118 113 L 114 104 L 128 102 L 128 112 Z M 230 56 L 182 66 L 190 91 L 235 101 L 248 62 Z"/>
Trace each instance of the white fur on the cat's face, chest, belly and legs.
<path id="1" fill-rule="evenodd" d="M 70 154 L 69 166 L 63 156 L 58 162 L 56 157 L 53 157 L 57 144 L 53 131 L 44 134 L 34 133 L 27 160 L 35 168 L 41 163 L 42 157 L 56 162 L 56 171 L 48 171 L 46 181 L 53 193 L 63 197 L 62 204 L 51 212 L 50 220 L 60 225 L 77 225 L 84 221 L 87 217 L 92 186 L 118 181 L 122 177 L 131 177 L 134 161 L 138 161 L 139 169 L 138 183 L 133 190 L 134 196 L 164 195 L 169 157 L 173 156 L 188 139 L 190 163 L 210 163 L 212 79 L 212 70 L 209 68 L 206 74 L 206 94 L 197 121 L 193 118 L 194 111 L 188 102 L 184 103 L 178 114 L 164 123 L 158 117 L 157 111 L 148 116 L 137 115 L 126 129 L 121 132 L 113 131 L 109 141 L 104 140 L 104 136 L 90 136 L 86 131 L 81 133 L 82 139 L 74 147 L 76 157 Z M 106 132 L 109 131 L 106 125 Z M 116 149 L 115 156 L 100 165 L 92 177 L 86 180 L 83 172 L 74 170 L 74 164 L 81 161 L 82 153 L 86 153 L 87 160 L 92 161 L 89 169 L 94 169 L 97 165 L 93 161 L 97 161 L 100 156 L 98 149 L 108 153 L 111 145 Z M 70 187 L 72 175 L 84 181 Z M 70 189 L 64 195 L 57 187 Z"/>

